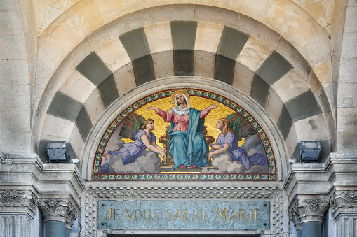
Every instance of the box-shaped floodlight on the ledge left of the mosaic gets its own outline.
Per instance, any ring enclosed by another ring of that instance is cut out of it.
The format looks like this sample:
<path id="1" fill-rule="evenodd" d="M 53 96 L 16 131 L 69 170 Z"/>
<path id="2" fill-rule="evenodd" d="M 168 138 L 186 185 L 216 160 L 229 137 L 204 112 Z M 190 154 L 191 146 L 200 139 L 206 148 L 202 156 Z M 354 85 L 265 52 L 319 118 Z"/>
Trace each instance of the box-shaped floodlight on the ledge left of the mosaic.
<path id="1" fill-rule="evenodd" d="M 47 144 L 46 150 L 48 154 L 48 160 L 50 162 L 69 162 L 70 157 L 67 141 L 50 141 Z"/>

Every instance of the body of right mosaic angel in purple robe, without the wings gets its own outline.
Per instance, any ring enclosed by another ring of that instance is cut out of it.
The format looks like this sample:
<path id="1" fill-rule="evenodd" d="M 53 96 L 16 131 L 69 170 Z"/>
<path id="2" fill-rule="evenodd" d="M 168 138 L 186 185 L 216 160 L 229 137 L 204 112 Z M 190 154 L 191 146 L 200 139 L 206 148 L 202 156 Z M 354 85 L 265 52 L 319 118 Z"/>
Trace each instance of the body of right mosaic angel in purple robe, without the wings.
<path id="1" fill-rule="evenodd" d="M 212 158 L 212 155 L 229 151 L 231 159 L 233 161 L 241 161 L 246 170 L 249 170 L 255 164 L 268 166 L 268 160 L 264 154 L 255 153 L 248 156 L 244 148 L 239 147 L 236 133 L 241 133 L 241 129 L 237 128 L 238 132 L 231 129 L 229 119 L 221 118 L 218 120 L 216 126 L 221 131 L 221 134 L 218 136 L 216 144 L 209 144 L 215 151 L 208 152 L 208 160 Z"/>

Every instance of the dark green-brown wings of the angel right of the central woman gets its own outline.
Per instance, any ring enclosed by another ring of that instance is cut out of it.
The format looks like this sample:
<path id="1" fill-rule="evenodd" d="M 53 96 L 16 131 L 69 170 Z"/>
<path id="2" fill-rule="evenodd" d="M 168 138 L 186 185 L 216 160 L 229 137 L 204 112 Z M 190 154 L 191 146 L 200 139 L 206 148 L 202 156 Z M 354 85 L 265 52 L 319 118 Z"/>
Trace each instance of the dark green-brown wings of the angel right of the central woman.
<path id="1" fill-rule="evenodd" d="M 234 130 L 238 141 L 241 141 L 242 138 L 246 138 L 249 135 L 254 135 L 255 130 L 250 126 L 249 122 L 238 113 L 232 113 L 231 115 L 227 115 L 226 117 L 231 123 L 231 129 Z"/>

